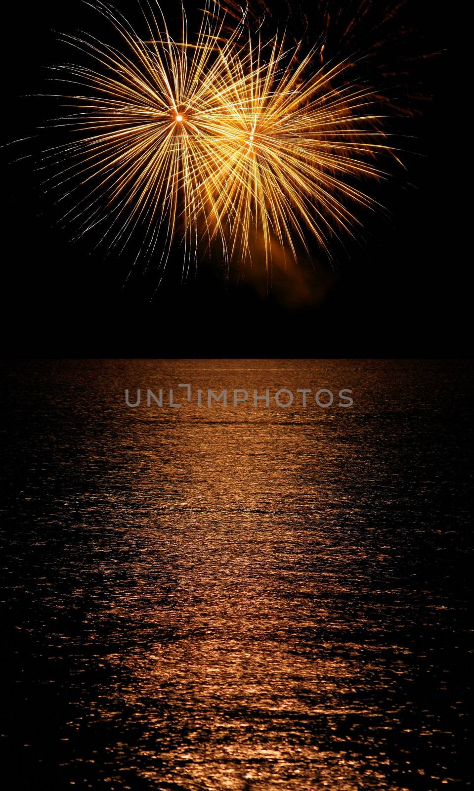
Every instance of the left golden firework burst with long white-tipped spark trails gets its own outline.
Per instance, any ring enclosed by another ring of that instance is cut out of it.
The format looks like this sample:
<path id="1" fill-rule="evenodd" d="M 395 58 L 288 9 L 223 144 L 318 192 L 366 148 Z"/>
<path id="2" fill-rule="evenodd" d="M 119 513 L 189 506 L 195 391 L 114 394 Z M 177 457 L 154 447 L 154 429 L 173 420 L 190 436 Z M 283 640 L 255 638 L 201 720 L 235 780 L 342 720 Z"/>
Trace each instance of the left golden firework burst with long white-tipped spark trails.
<path id="1" fill-rule="evenodd" d="M 67 69 L 69 81 L 75 78 L 92 91 L 91 95 L 70 98 L 74 113 L 67 120 L 74 131 L 85 136 L 54 153 L 72 160 L 59 173 L 59 184 L 64 187 L 79 178 L 82 186 L 91 184 L 89 198 L 107 195 L 112 222 L 104 236 L 115 229 L 112 246 L 126 235 L 130 237 L 141 222 L 145 237 L 150 237 L 148 250 L 154 250 L 157 229 L 165 229 L 166 250 L 179 219 L 189 244 L 197 233 L 199 218 L 206 219 L 199 213 L 198 185 L 206 178 L 205 167 L 213 156 L 208 119 L 210 111 L 215 115 L 219 106 L 212 87 L 217 78 L 212 61 L 223 21 L 216 13 L 205 13 L 191 46 L 183 15 L 183 39 L 176 44 L 165 18 L 161 17 L 160 27 L 150 9 L 150 40 L 143 41 L 123 17 L 102 3 L 97 7 L 112 22 L 131 55 L 92 38 L 68 37 L 68 42 L 91 55 L 96 65 L 93 69 Z M 231 46 L 232 39 L 226 47 Z M 203 120 L 207 131 L 201 128 Z M 100 207 L 97 198 L 82 199 L 84 202 L 86 206 L 79 204 L 74 210 L 83 215 L 82 229 L 87 229 L 97 221 Z"/>

